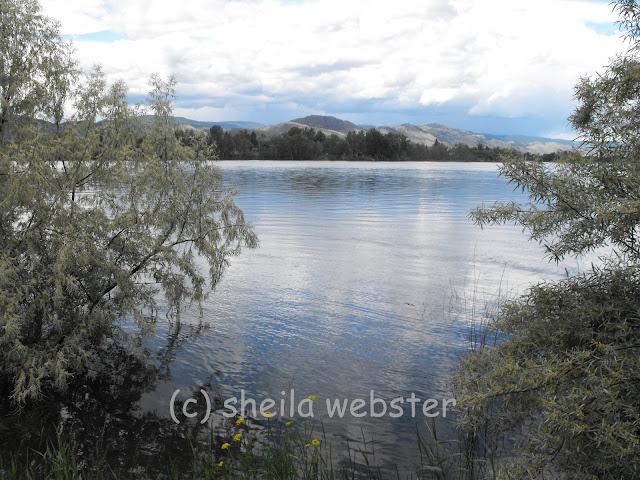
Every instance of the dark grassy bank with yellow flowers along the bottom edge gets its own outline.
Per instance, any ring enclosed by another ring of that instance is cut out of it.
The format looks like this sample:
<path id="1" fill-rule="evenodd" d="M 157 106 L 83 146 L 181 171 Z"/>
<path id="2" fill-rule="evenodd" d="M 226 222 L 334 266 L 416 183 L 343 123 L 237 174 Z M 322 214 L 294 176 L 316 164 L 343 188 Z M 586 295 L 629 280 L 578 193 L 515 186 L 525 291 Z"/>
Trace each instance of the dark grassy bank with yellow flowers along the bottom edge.
<path id="1" fill-rule="evenodd" d="M 167 480 L 446 480 L 470 479 L 466 465 L 470 458 L 458 439 L 441 440 L 435 425 L 427 425 L 427 435 L 416 426 L 419 465 L 412 473 L 400 474 L 377 466 L 375 452 L 353 448 L 347 443 L 343 455 L 335 455 L 322 425 L 292 425 L 280 419 L 268 420 L 260 435 L 246 423 L 233 420 L 225 425 L 223 437 L 211 429 L 206 441 L 192 441 L 190 467 L 176 468 L 171 458 L 158 459 L 163 467 L 144 472 L 135 466 L 91 463 L 76 454 L 63 437 L 47 442 L 43 452 L 28 448 L 17 452 L 0 452 L 0 477 L 7 480 L 112 480 L 121 478 Z M 223 443 L 221 443 L 223 442 Z M 225 448 L 223 445 L 228 444 Z M 366 446 L 366 445 L 365 445 Z M 89 458 L 100 459 L 100 452 Z M 340 458 L 338 458 L 340 457 Z M 477 461 L 483 461 L 476 459 Z M 492 466 L 492 458 L 490 466 Z M 407 466 L 404 466 L 407 467 Z M 403 470 L 409 470 L 404 468 Z M 486 471 L 486 469 L 483 469 Z M 484 475 L 483 478 L 495 478 Z"/>

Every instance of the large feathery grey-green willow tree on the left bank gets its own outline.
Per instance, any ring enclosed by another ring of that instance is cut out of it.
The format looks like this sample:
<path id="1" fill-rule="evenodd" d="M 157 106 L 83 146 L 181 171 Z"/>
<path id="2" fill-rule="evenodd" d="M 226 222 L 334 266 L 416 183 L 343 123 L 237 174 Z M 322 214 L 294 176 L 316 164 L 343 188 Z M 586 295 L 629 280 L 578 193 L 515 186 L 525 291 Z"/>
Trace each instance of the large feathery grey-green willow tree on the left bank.
<path id="1" fill-rule="evenodd" d="M 159 296 L 169 314 L 201 302 L 257 240 L 205 136 L 177 140 L 173 78 L 151 77 L 145 123 L 99 68 L 74 86 L 71 48 L 37 4 L 1 5 L 13 33 L 0 79 L 0 386 L 21 405 L 95 374 L 101 349 L 126 339 L 124 322 L 152 321 Z M 65 122 L 63 97 L 75 104 Z"/>

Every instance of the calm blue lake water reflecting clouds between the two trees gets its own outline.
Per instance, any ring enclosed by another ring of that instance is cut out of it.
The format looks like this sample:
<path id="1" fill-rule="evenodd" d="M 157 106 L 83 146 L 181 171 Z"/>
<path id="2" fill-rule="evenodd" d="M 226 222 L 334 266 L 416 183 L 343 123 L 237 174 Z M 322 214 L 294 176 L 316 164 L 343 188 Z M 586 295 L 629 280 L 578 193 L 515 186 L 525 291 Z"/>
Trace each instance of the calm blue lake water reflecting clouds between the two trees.
<path id="1" fill-rule="evenodd" d="M 170 376 L 143 397 L 147 410 L 168 415 L 176 388 L 279 400 L 293 386 L 298 398 L 317 397 L 331 441 L 364 435 L 380 463 L 411 462 L 424 417 L 328 419 L 326 399 L 370 390 L 386 401 L 449 398 L 472 292 L 484 303 L 572 267 L 549 264 L 520 228 L 482 230 L 468 218 L 480 204 L 520 198 L 492 164 L 219 166 L 260 247 L 233 259 L 202 318 L 183 315 L 209 328 L 178 334 Z"/>

